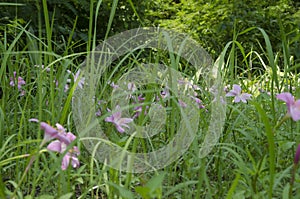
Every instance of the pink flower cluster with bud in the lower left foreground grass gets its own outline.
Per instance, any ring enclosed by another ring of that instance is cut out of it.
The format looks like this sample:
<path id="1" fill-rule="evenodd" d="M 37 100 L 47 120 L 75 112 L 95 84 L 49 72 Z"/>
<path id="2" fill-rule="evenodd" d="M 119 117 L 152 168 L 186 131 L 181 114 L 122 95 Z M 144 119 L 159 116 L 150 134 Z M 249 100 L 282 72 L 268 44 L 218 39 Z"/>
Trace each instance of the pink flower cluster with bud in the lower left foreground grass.
<path id="1" fill-rule="evenodd" d="M 30 119 L 29 121 L 39 122 L 37 119 Z M 76 139 L 76 136 L 71 132 L 66 132 L 64 127 L 58 123 L 56 124 L 56 128 L 54 128 L 45 122 L 40 122 L 40 128 L 45 133 L 41 146 L 52 140 L 47 146 L 47 149 L 49 151 L 65 154 L 62 159 L 61 169 L 66 170 L 70 163 L 73 168 L 78 168 L 80 166 L 77 158 L 80 154 L 78 147 L 73 146 L 66 152 L 68 146 Z"/>

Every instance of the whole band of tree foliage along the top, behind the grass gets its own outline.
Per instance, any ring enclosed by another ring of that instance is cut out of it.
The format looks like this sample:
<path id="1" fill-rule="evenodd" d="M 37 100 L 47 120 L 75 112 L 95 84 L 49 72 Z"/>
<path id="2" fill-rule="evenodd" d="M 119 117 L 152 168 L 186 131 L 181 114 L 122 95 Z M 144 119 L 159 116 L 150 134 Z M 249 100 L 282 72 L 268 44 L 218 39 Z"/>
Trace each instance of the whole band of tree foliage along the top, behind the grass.
<path id="1" fill-rule="evenodd" d="M 35 1 L 23 2 L 18 7 L 0 6 L 1 24 L 9 24 L 9 21 L 18 19 L 23 26 L 29 23 L 28 28 L 36 35 L 39 27 L 45 33 L 41 4 L 36 4 Z M 97 1 L 91 2 L 94 16 Z M 71 33 L 72 42 L 77 44 L 75 47 L 87 41 L 91 14 L 89 1 L 49 0 L 47 4 L 49 19 L 53 25 L 52 38 L 56 42 L 67 41 Z M 280 38 L 285 34 L 291 54 L 295 56 L 295 60 L 300 59 L 300 11 L 296 1 L 120 0 L 117 5 L 113 5 L 111 1 L 104 0 L 96 26 L 93 26 L 97 28 L 98 40 L 106 36 L 112 9 L 115 9 L 115 16 L 109 35 L 139 26 L 159 25 L 192 35 L 213 57 L 217 57 L 226 43 L 232 40 L 243 41 L 244 46 L 250 47 L 257 46 L 257 41 L 262 43 L 263 38 L 258 31 L 233 34 L 251 27 L 260 27 L 267 32 L 276 51 L 282 51 L 283 41 Z M 78 50 L 83 49 L 80 47 Z"/>

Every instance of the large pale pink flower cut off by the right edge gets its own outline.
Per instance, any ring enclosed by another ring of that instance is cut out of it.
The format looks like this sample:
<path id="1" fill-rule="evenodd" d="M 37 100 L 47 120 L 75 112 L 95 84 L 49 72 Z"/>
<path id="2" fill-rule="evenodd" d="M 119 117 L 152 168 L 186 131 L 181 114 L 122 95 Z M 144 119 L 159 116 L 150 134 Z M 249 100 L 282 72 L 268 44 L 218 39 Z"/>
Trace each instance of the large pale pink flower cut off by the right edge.
<path id="1" fill-rule="evenodd" d="M 288 109 L 287 114 L 292 117 L 294 121 L 300 120 L 300 100 L 295 101 L 294 96 L 287 92 L 280 93 L 276 97 L 286 103 Z"/>

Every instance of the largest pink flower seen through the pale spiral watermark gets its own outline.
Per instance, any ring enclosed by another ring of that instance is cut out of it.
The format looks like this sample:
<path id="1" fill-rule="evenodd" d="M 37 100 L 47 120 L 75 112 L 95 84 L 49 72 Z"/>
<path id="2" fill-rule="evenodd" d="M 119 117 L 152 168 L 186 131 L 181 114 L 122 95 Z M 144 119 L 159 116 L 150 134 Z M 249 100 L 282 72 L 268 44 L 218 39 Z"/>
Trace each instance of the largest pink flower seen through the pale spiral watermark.
<path id="1" fill-rule="evenodd" d="M 105 121 L 113 123 L 120 133 L 124 133 L 125 129 L 123 127 L 129 128 L 129 126 L 127 124 L 132 122 L 133 119 L 132 118 L 122 118 L 121 117 L 122 112 L 120 110 L 119 105 L 116 106 L 116 109 L 117 109 L 117 111 L 114 112 L 111 116 L 105 118 Z M 108 111 L 110 111 L 110 110 L 108 110 Z"/>

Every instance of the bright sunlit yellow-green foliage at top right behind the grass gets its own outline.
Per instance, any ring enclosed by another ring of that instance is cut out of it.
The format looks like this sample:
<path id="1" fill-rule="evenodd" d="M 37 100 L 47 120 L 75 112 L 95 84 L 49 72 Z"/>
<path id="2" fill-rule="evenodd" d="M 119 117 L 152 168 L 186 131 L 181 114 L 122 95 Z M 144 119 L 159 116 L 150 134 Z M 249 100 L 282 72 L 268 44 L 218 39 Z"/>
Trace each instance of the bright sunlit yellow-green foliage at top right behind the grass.
<path id="1" fill-rule="evenodd" d="M 276 50 L 281 50 L 280 25 L 288 35 L 291 52 L 300 59 L 300 11 L 296 1 L 154 1 L 147 16 L 163 27 L 190 33 L 212 55 L 217 56 L 229 41 L 237 39 L 248 46 L 262 43 L 259 32 L 234 35 L 251 27 L 263 28 Z M 234 38 L 238 37 L 238 38 Z"/>

